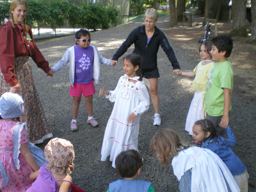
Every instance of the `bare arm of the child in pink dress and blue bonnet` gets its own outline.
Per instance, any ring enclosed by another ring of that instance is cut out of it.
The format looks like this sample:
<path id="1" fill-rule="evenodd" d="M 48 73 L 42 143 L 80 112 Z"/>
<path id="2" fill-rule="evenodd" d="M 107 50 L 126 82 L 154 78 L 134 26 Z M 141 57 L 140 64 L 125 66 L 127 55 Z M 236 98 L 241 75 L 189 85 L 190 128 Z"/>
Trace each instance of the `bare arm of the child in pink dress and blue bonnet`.
<path id="1" fill-rule="evenodd" d="M 35 161 L 34 156 L 29 151 L 28 143 L 24 143 L 20 146 L 20 155 L 22 155 L 25 161 L 29 164 L 29 166 L 35 171 L 38 170 L 40 167 Z"/>

